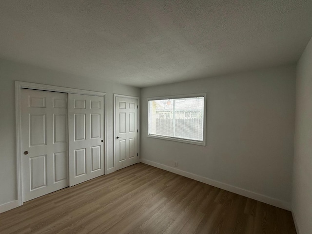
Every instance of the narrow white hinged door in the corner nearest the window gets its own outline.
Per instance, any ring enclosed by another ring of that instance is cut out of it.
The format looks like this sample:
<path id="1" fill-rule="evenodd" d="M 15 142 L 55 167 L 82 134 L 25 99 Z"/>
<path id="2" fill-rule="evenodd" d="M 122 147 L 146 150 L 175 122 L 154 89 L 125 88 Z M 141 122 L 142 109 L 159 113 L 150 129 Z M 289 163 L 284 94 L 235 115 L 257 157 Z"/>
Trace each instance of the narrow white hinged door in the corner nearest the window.
<path id="1" fill-rule="evenodd" d="M 138 99 L 115 97 L 116 170 L 138 162 Z"/>

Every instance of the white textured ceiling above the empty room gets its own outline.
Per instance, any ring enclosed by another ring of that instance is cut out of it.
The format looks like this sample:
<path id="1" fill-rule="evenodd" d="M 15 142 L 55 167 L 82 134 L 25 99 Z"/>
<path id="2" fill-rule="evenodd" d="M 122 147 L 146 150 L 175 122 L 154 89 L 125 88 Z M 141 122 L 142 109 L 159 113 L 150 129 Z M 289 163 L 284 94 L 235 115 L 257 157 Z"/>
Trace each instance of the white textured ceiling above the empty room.
<path id="1" fill-rule="evenodd" d="M 312 0 L 0 0 L 0 58 L 137 87 L 296 62 Z"/>

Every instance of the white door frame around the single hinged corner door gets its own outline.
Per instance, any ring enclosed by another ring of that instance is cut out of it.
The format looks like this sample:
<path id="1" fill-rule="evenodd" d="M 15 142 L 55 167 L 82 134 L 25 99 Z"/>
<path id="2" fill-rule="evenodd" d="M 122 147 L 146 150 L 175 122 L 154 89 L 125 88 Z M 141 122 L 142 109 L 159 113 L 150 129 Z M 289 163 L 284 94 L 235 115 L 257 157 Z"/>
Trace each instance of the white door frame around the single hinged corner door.
<path id="1" fill-rule="evenodd" d="M 133 98 L 133 99 L 137 99 L 137 152 L 138 152 L 138 157 L 137 157 L 137 162 L 140 162 L 140 98 L 139 97 L 135 97 L 135 96 L 128 96 L 128 95 L 122 95 L 122 94 L 113 94 L 113 99 L 114 99 L 114 119 L 113 119 L 113 125 L 114 125 L 114 133 L 113 133 L 113 144 L 114 144 L 114 168 L 116 171 L 116 98 Z"/>

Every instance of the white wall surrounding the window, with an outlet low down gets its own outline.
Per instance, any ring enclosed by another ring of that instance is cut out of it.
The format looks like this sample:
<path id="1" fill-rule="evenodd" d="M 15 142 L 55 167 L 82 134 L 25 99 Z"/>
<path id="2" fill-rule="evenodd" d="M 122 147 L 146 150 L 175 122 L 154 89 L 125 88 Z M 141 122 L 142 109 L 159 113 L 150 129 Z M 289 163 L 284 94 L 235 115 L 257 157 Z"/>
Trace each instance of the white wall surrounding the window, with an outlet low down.
<path id="1" fill-rule="evenodd" d="M 290 209 L 295 75 L 285 66 L 143 88 L 141 161 Z M 147 137 L 147 98 L 203 92 L 206 146 Z"/>

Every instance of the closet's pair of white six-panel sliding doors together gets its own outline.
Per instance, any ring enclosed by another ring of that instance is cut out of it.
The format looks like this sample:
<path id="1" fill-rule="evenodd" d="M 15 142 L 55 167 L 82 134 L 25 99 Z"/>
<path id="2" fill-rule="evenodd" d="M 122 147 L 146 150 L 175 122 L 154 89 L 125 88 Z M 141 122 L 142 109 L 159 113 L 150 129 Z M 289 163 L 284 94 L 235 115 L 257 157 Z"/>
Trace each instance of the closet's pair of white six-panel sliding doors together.
<path id="1" fill-rule="evenodd" d="M 22 201 L 104 175 L 104 98 L 20 89 Z"/>

